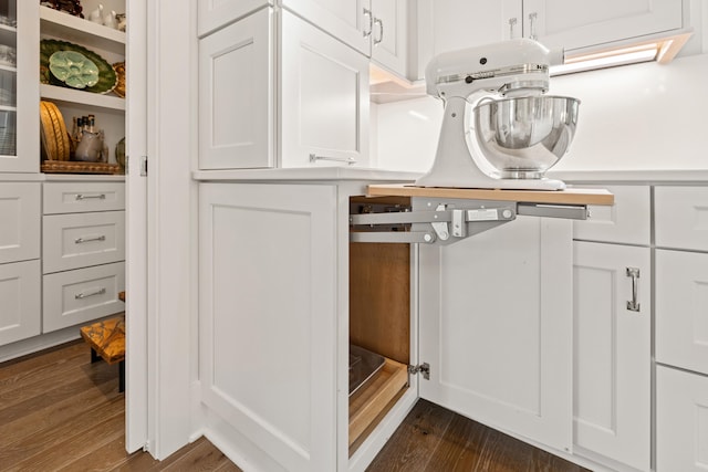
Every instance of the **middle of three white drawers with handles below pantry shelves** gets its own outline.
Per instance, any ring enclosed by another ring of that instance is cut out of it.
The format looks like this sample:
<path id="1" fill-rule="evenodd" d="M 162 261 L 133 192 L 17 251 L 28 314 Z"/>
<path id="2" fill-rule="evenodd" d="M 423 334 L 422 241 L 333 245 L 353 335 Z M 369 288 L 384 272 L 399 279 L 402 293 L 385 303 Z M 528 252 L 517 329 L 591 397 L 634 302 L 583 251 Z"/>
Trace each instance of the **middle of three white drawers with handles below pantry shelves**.
<path id="1" fill-rule="evenodd" d="M 43 272 L 59 272 L 125 259 L 125 212 L 44 217 Z"/>

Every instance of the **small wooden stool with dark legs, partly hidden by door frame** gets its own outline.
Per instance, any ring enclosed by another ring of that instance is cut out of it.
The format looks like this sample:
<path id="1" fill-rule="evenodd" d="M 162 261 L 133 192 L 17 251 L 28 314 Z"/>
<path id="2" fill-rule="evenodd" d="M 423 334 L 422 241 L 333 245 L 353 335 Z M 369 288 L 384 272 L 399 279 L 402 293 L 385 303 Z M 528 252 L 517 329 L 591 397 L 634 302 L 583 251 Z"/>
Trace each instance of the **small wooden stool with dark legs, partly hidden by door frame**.
<path id="1" fill-rule="evenodd" d="M 118 391 L 125 391 L 125 316 L 104 319 L 81 328 L 91 346 L 91 363 L 103 358 L 108 365 L 118 363 Z"/>

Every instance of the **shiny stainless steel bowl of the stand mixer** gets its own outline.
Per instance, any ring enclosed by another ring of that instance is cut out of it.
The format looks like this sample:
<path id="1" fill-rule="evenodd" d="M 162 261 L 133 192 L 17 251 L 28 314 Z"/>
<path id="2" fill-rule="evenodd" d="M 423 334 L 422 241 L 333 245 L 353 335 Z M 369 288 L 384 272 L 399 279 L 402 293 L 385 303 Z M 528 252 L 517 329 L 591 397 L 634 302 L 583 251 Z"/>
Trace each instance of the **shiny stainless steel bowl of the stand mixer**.
<path id="1" fill-rule="evenodd" d="M 482 101 L 472 114 L 483 157 L 501 178 L 543 177 L 573 140 L 579 105 L 553 95 Z"/>

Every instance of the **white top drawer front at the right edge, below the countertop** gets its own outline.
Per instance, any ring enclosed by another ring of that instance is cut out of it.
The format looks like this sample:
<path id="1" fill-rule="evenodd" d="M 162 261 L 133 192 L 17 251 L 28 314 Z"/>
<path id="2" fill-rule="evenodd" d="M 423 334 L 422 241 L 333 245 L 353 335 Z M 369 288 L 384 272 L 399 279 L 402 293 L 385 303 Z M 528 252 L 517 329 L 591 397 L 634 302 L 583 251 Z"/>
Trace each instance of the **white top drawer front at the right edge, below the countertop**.
<path id="1" fill-rule="evenodd" d="M 708 187 L 654 189 L 656 245 L 708 251 Z"/>

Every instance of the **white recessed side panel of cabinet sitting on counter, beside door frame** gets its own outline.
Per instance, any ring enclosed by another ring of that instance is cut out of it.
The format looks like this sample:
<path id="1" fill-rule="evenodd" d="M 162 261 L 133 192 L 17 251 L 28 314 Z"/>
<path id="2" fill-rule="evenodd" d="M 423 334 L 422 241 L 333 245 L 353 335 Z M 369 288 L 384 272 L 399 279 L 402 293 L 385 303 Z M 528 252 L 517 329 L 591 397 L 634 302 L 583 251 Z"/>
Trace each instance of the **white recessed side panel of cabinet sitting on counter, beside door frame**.
<path id="1" fill-rule="evenodd" d="M 199 168 L 273 167 L 273 11 L 199 41 Z"/>

